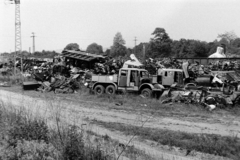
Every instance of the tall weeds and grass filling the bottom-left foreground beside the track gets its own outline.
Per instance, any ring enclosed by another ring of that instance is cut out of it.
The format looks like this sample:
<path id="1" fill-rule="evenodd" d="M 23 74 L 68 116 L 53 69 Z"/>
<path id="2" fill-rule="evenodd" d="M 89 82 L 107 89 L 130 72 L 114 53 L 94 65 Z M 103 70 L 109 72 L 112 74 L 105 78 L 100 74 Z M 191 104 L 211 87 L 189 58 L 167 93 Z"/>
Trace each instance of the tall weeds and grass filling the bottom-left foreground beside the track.
<path id="1" fill-rule="evenodd" d="M 40 111 L 36 111 L 37 115 L 28 111 L 27 106 L 15 108 L 11 103 L 0 103 L 0 160 L 110 160 L 117 159 L 119 155 L 119 160 L 122 157 L 154 159 L 134 146 L 122 153 L 120 143 L 109 136 L 84 130 L 77 120 L 73 124 L 67 123 L 61 117 L 59 105 L 50 104 L 47 111 L 51 116 L 49 120 L 47 115 L 42 117 Z M 38 106 L 31 108 L 38 110 Z"/>

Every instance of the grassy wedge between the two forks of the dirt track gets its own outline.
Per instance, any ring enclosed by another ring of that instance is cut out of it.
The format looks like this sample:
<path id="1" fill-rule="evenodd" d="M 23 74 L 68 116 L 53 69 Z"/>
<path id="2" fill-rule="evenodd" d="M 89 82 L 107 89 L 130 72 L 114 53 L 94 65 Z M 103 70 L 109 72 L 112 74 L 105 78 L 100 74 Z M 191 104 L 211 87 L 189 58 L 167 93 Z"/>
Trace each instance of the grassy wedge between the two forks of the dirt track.
<path id="1" fill-rule="evenodd" d="M 240 139 L 237 136 L 190 134 L 167 129 L 153 129 L 97 120 L 93 120 L 92 123 L 108 129 L 121 131 L 126 135 L 135 135 L 141 139 L 152 140 L 161 145 L 180 147 L 189 152 L 198 151 L 234 160 L 240 159 Z"/>

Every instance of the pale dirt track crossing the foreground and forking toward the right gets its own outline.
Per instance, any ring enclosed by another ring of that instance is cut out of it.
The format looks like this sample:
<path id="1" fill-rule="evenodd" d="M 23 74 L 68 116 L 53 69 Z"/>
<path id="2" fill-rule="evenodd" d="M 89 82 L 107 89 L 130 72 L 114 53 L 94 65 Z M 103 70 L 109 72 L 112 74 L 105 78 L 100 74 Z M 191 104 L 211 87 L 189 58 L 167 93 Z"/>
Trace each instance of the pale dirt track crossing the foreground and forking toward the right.
<path id="1" fill-rule="evenodd" d="M 122 133 L 110 131 L 101 126 L 89 124 L 88 120 L 101 120 L 105 122 L 118 122 L 124 124 L 131 124 L 135 126 L 141 126 L 142 122 L 149 118 L 151 115 L 128 113 L 124 110 L 105 109 L 100 108 L 97 105 L 83 103 L 77 104 L 69 101 L 62 101 L 56 99 L 56 101 L 47 101 L 39 98 L 32 98 L 19 93 L 13 93 L 9 91 L 0 90 L 0 100 L 5 104 L 11 106 L 20 107 L 24 104 L 27 111 L 34 113 L 38 116 L 43 116 L 51 122 L 54 120 L 56 113 L 61 114 L 61 118 L 67 123 L 87 124 L 87 129 L 91 129 L 100 135 L 109 135 L 113 139 L 118 139 L 121 143 L 127 143 L 131 136 L 125 136 Z M 184 131 L 190 133 L 214 133 L 220 135 L 236 135 L 240 133 L 240 121 L 232 120 L 232 123 L 221 121 L 221 123 L 215 123 L 210 121 L 199 122 L 186 121 L 180 118 L 171 117 L 156 117 L 152 116 L 150 120 L 144 125 L 144 127 L 170 129 L 174 131 Z M 144 150 L 146 153 L 154 157 L 163 157 L 164 159 L 199 159 L 196 157 L 185 157 L 183 153 L 175 151 L 163 150 L 158 146 L 150 146 L 146 142 L 138 141 L 135 139 L 131 144 L 138 149 Z M 219 159 L 219 158 L 218 158 Z"/>

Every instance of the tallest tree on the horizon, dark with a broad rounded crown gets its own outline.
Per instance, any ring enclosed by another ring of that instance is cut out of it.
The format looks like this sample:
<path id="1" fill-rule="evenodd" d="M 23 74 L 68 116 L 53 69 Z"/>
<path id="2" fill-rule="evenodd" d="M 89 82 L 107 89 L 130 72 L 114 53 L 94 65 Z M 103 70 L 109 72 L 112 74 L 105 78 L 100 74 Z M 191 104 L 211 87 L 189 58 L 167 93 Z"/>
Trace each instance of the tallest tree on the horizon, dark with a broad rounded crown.
<path id="1" fill-rule="evenodd" d="M 165 57 L 171 54 L 172 40 L 164 28 L 156 28 L 152 33 L 154 38 L 150 40 L 148 56 L 152 58 Z"/>

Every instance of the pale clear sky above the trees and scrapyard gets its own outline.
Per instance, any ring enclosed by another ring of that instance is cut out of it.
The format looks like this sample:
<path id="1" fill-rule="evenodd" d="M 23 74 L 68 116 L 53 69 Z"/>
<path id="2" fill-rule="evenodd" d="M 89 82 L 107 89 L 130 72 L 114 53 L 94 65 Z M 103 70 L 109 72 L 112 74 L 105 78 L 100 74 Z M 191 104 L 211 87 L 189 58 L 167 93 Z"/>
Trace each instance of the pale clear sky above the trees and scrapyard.
<path id="1" fill-rule="evenodd" d="M 22 50 L 60 50 L 77 43 L 110 48 L 117 32 L 127 47 L 149 42 L 155 28 L 171 39 L 212 42 L 240 36 L 240 0 L 21 0 Z M 0 0 L 0 53 L 15 51 L 15 5 Z"/>

